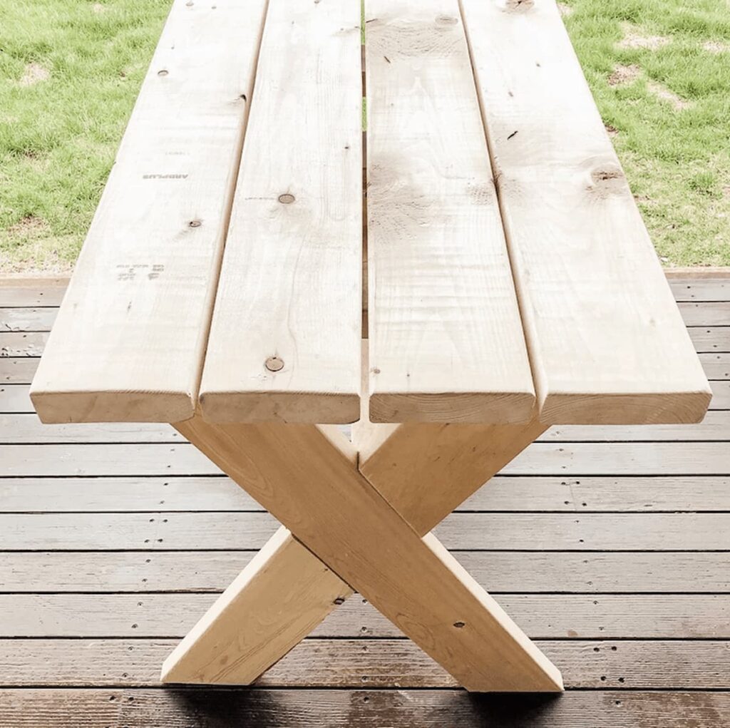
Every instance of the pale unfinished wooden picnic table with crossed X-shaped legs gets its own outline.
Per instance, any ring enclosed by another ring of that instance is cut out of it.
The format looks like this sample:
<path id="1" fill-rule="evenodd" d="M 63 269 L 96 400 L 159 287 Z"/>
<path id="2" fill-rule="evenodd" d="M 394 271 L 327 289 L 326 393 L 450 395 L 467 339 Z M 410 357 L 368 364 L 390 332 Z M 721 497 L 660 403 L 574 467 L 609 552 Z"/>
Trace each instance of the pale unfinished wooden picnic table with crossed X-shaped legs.
<path id="1" fill-rule="evenodd" d="M 551 424 L 710 396 L 553 0 L 177 0 L 31 388 L 283 524 L 163 681 L 357 590 L 475 691 L 562 680 L 434 527 Z"/>

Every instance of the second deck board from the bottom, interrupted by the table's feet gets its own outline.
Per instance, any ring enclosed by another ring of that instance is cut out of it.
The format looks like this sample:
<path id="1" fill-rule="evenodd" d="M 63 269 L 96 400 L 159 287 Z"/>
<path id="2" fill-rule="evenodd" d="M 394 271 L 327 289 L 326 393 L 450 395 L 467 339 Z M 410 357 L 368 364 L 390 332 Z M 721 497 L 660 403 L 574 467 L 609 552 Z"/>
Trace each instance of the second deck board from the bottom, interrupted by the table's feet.
<path id="1" fill-rule="evenodd" d="M 172 640 L 0 640 L 2 686 L 145 686 Z M 570 688 L 726 689 L 720 640 L 562 640 L 537 643 Z M 364 649 L 366 648 L 366 649 Z M 595 648 L 598 648 L 597 651 Z M 304 640 L 259 686 L 456 687 L 410 640 Z"/>

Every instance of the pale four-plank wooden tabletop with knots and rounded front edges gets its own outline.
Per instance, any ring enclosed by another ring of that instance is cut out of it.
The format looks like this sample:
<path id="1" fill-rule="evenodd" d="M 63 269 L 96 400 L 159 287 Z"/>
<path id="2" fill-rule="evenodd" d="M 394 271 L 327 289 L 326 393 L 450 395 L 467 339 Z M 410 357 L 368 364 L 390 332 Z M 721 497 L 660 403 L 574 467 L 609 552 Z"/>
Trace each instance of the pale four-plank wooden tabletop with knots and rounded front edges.
<path id="1" fill-rule="evenodd" d="M 31 398 L 352 422 L 362 339 L 372 421 L 704 416 L 553 0 L 177 0 Z"/>

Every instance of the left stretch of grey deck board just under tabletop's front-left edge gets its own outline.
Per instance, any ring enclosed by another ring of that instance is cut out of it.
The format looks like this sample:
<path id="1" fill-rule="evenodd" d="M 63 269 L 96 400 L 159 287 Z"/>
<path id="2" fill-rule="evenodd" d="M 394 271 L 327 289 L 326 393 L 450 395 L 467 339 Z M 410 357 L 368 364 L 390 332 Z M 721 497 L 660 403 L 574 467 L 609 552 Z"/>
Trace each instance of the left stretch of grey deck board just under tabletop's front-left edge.
<path id="1" fill-rule="evenodd" d="M 0 386 L 0 411 L 7 406 Z M 59 442 L 184 442 L 179 432 L 166 424 L 110 422 L 104 424 L 45 425 L 35 414 L 0 417 L 0 444 Z"/>

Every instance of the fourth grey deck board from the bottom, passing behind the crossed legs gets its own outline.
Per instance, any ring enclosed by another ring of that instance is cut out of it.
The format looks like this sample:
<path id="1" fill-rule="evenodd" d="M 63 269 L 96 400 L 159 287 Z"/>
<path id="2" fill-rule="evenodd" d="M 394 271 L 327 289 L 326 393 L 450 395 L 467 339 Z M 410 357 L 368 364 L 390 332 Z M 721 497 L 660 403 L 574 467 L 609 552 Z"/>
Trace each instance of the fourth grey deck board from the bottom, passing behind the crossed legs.
<path id="1" fill-rule="evenodd" d="M 455 551 L 491 594 L 730 592 L 727 553 Z M 250 551 L 20 551 L 0 553 L 0 591 L 220 593 Z M 499 597 L 498 597 L 499 598 Z"/>

